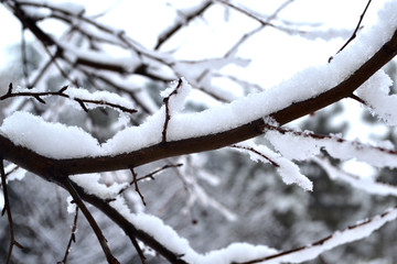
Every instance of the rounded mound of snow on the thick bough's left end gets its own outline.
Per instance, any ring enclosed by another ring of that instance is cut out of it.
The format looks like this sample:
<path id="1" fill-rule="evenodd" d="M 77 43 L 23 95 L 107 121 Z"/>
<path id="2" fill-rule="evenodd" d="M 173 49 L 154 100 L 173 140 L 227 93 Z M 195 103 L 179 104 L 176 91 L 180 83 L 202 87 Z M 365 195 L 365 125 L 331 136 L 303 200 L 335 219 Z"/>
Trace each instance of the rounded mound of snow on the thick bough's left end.
<path id="1" fill-rule="evenodd" d="M 4 119 L 0 133 L 15 145 L 52 158 L 95 156 L 100 153 L 98 141 L 83 129 L 49 123 L 29 112 L 14 112 Z"/>

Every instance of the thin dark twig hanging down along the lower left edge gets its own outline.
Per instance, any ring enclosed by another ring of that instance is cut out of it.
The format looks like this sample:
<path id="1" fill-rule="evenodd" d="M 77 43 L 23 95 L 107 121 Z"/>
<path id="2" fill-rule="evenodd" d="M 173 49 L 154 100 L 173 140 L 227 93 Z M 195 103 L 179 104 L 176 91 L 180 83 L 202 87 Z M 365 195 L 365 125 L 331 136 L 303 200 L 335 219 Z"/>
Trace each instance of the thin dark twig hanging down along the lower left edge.
<path id="1" fill-rule="evenodd" d="M 8 221 L 9 221 L 9 230 L 10 230 L 10 244 L 9 244 L 9 251 L 8 251 L 7 261 L 6 261 L 6 263 L 9 264 L 11 262 L 13 246 L 15 245 L 19 249 L 23 249 L 23 246 L 17 242 L 14 232 L 13 232 L 11 207 L 10 207 L 7 183 L 6 183 L 4 161 L 2 158 L 0 161 L 0 170 L 1 170 L 0 173 L 1 173 L 2 190 L 3 190 L 3 196 L 4 196 L 4 208 L 2 209 L 1 216 L 3 216 L 7 211 L 7 217 L 8 217 Z"/>

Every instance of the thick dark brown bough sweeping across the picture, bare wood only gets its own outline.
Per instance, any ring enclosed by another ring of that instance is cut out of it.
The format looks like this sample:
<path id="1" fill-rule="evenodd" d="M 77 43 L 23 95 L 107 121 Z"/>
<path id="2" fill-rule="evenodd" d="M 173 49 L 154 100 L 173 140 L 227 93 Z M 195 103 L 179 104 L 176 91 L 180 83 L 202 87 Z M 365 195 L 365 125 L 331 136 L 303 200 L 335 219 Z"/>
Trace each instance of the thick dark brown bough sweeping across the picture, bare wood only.
<path id="1" fill-rule="evenodd" d="M 394 33 L 390 41 L 384 44 L 377 53 L 344 81 L 315 98 L 292 103 L 291 106 L 270 114 L 270 117 L 282 125 L 305 114 L 318 111 L 343 98 L 350 97 L 355 89 L 364 84 L 396 54 L 397 31 Z M 3 135 L 0 136 L 0 150 L 2 150 L 1 152 L 6 160 L 37 175 L 51 178 L 53 172 L 73 175 L 126 169 L 165 157 L 216 150 L 255 138 L 261 134 L 264 129 L 264 120 L 257 119 L 224 132 L 180 141 L 161 142 L 152 146 L 115 156 L 54 160 L 39 155 L 22 146 L 15 146 Z"/>

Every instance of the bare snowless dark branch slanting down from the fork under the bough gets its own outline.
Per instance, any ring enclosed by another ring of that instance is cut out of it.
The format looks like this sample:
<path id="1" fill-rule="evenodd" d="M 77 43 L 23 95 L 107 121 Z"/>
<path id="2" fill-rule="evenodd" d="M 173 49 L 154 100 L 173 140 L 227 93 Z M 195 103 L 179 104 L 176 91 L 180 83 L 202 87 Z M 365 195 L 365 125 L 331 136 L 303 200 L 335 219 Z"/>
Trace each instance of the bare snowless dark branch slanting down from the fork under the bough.
<path id="1" fill-rule="evenodd" d="M 84 205 L 81 195 L 77 193 L 75 187 L 71 184 L 71 180 L 66 177 L 62 177 L 62 182 L 60 182 L 64 188 L 71 194 L 73 197 L 73 200 L 76 202 L 78 208 L 82 210 L 84 217 L 87 219 L 89 226 L 94 230 L 94 233 L 96 234 L 99 244 L 106 255 L 106 260 L 109 264 L 119 264 L 118 260 L 111 254 L 111 251 L 107 244 L 107 240 L 105 239 L 105 235 L 103 234 L 99 226 L 95 221 L 93 215 L 88 211 L 88 208 Z"/>

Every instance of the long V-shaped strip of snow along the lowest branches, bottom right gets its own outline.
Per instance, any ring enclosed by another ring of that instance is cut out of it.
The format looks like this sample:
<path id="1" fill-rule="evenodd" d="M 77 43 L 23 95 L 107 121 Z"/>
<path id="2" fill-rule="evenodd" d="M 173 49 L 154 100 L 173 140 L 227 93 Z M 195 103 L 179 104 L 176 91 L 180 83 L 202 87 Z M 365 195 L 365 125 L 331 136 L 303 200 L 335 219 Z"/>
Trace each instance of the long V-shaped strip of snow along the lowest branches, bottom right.
<path id="1" fill-rule="evenodd" d="M 110 205 L 126 217 L 138 229 L 149 233 L 157 241 L 167 245 L 175 254 L 181 254 L 187 263 L 194 264 L 229 264 L 257 260 L 260 263 L 302 263 L 313 260 L 325 251 L 341 244 L 350 243 L 371 235 L 389 221 L 397 218 L 397 208 L 390 208 L 372 219 L 360 221 L 344 230 L 336 231 L 332 235 L 291 252 L 278 252 L 266 245 L 253 245 L 248 243 L 233 243 L 225 249 L 215 250 L 205 254 L 195 252 L 189 241 L 181 238 L 172 228 L 164 222 L 146 213 L 131 213 L 124 199 L 111 201 Z M 268 258 L 268 260 L 266 260 Z"/>

